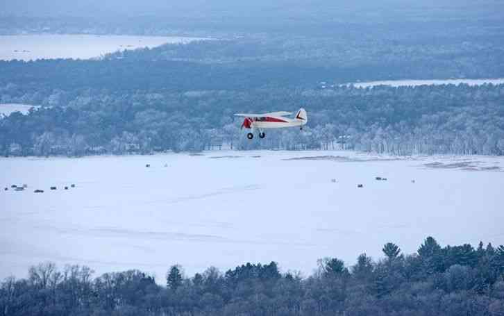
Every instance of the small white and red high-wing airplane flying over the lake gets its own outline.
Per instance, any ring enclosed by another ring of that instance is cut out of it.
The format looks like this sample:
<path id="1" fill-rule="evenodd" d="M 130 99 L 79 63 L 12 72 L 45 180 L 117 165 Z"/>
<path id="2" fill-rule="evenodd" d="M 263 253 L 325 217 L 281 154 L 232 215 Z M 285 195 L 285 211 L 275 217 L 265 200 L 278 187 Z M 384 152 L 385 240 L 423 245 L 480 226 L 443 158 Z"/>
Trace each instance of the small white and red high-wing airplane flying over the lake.
<path id="1" fill-rule="evenodd" d="M 264 138 L 266 137 L 266 133 L 262 130 L 265 128 L 299 126 L 299 129 L 303 129 L 303 125 L 308 123 L 308 115 L 304 108 L 299 109 L 294 119 L 285 117 L 291 114 L 292 112 L 280 111 L 263 114 L 237 113 L 235 116 L 245 117 L 242 128 L 250 128 L 252 130 L 252 133 L 246 134 L 246 138 L 251 140 L 254 138 L 253 132 L 255 129 L 259 131 L 259 138 Z"/>

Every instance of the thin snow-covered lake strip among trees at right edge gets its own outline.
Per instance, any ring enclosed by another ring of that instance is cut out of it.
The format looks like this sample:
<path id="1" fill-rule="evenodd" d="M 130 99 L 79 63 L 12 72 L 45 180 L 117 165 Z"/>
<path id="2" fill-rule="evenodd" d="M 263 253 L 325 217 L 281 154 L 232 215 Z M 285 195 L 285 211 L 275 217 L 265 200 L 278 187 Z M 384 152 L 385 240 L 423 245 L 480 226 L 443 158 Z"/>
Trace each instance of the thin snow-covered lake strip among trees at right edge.
<path id="1" fill-rule="evenodd" d="M 498 85 L 504 83 L 504 78 L 494 78 L 494 79 L 439 79 L 439 80 L 385 80 L 385 81 L 369 81 L 369 82 L 357 82 L 357 83 L 345 83 L 343 85 L 353 85 L 355 88 L 368 88 L 374 87 L 376 85 L 391 85 L 392 87 L 403 87 L 410 86 L 414 87 L 417 85 L 459 85 L 464 83 L 467 85 L 484 85 L 485 83 L 492 83 Z"/>

